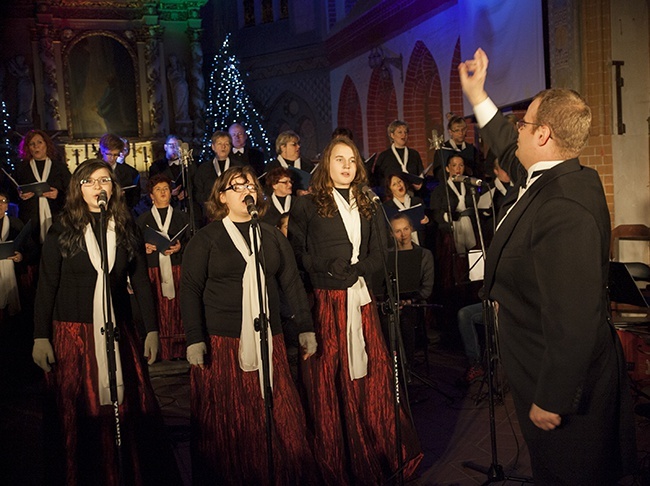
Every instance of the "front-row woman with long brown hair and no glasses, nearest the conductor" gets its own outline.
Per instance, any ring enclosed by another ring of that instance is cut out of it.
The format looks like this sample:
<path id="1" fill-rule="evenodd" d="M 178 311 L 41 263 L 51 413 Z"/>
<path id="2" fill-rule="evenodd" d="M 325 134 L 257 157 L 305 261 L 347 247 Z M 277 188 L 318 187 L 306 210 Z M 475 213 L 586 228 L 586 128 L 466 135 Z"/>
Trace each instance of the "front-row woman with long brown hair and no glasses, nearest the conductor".
<path id="1" fill-rule="evenodd" d="M 385 223 L 362 194 L 366 171 L 354 142 L 335 137 L 323 151 L 311 194 L 296 200 L 289 240 L 314 288 L 319 350 L 305 362 L 314 454 L 326 484 L 384 484 L 398 469 L 395 394 L 370 279 L 382 268 Z M 422 455 L 400 411 L 404 476 Z"/>

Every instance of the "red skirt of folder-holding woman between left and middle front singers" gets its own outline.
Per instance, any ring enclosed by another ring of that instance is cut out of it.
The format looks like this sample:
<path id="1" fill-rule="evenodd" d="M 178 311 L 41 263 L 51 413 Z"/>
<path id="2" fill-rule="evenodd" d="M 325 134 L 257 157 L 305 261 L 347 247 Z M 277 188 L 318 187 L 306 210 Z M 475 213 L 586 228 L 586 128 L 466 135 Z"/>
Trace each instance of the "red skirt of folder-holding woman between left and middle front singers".
<path id="1" fill-rule="evenodd" d="M 160 326 L 160 359 L 185 358 L 185 330 L 181 321 L 180 282 L 181 266 L 173 265 L 176 297 L 168 299 L 162 294 L 160 268 L 149 268 L 149 280 L 156 299 Z"/>

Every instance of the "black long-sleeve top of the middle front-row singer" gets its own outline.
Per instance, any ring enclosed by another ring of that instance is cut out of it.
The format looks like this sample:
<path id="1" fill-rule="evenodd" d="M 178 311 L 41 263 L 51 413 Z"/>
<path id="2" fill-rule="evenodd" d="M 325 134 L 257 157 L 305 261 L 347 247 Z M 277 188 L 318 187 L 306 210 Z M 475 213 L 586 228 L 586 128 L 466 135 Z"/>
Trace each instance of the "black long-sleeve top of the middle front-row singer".
<path id="1" fill-rule="evenodd" d="M 271 333 L 282 332 L 280 289 L 294 312 L 298 332 L 313 331 L 307 294 L 291 246 L 273 226 L 260 223 L 260 228 Z M 246 262 L 221 221 L 194 235 L 185 248 L 182 266 L 180 303 L 187 344 L 205 341 L 206 334 L 238 338 Z"/>

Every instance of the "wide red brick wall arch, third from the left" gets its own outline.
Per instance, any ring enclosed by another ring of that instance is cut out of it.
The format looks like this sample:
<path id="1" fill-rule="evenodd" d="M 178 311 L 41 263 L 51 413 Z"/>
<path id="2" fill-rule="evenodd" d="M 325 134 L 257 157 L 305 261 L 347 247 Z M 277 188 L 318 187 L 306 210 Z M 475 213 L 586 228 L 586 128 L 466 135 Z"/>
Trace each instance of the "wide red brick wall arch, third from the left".
<path id="1" fill-rule="evenodd" d="M 422 155 L 425 165 L 433 157 L 431 131 L 444 132 L 442 83 L 438 65 L 424 42 L 413 46 L 404 82 L 404 119 L 411 130 L 409 146 Z"/>

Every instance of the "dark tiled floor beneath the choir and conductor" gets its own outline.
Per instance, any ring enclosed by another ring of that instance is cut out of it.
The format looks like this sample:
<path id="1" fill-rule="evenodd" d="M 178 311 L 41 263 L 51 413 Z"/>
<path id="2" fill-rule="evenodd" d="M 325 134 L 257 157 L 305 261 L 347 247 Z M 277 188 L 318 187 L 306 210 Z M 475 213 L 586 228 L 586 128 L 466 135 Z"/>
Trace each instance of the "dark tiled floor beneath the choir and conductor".
<path id="1" fill-rule="evenodd" d="M 429 373 L 420 355 L 414 367 L 429 381 L 416 377 L 409 386 L 411 408 L 419 432 L 424 460 L 418 478 L 409 485 L 469 486 L 483 484 L 488 475 L 465 466 L 466 461 L 491 464 L 489 407 L 479 394 L 480 383 L 469 389 L 456 386 L 464 371 L 464 360 L 456 350 L 429 347 Z M 157 363 L 151 367 L 152 383 L 165 421 L 175 443 L 176 456 L 190 484 L 189 454 L 189 373 L 181 361 Z M 441 393 L 442 392 L 442 393 Z M 40 454 L 40 384 L 13 384 L 0 391 L 0 484 L 42 484 Z M 478 403 L 477 403 L 478 402 Z M 650 475 L 650 420 L 639 418 L 639 457 Z M 497 463 L 508 476 L 527 476 L 530 464 L 526 445 L 519 432 L 510 395 L 495 405 Z M 646 476 L 647 478 L 648 476 Z M 498 481 L 495 484 L 521 484 Z M 647 484 L 643 479 L 625 484 Z"/>

